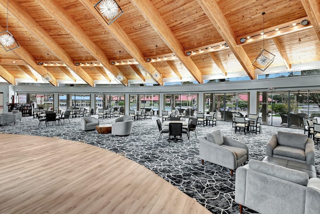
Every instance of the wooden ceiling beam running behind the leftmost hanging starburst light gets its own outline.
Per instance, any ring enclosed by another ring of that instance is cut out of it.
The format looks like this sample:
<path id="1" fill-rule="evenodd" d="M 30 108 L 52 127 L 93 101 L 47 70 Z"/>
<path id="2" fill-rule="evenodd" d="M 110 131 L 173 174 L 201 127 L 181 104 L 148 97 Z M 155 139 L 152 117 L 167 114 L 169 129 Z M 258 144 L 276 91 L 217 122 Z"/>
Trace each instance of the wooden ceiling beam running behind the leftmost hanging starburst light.
<path id="1" fill-rule="evenodd" d="M 1 5 L 1 4 L 0 4 Z M 0 27 L 0 30 L 3 31 L 4 29 L 2 27 Z M 38 74 L 40 75 L 44 75 L 45 73 L 49 73 L 52 78 L 53 81 L 50 82 L 52 85 L 57 86 L 57 81 L 56 78 L 54 77 L 54 75 L 52 75 L 52 73 L 50 73 L 47 69 L 45 69 L 43 66 L 38 66 L 37 63 L 35 62 L 35 59 L 33 58 L 33 56 L 26 51 L 23 46 L 20 45 L 19 48 L 15 48 L 13 50 L 11 50 L 12 52 L 14 52 L 14 54 L 16 56 L 18 56 L 19 58 L 21 58 L 25 63 L 27 63 L 30 67 L 32 67 L 33 70 L 35 70 Z"/>

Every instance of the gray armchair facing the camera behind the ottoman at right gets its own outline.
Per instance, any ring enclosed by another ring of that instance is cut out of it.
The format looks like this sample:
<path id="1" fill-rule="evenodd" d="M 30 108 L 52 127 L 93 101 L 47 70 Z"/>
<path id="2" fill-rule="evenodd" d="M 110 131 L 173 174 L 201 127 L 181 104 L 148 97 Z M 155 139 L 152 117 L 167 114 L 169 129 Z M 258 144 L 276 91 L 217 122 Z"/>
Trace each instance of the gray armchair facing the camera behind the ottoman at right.
<path id="1" fill-rule="evenodd" d="M 314 165 L 314 142 L 304 134 L 278 131 L 266 143 L 266 156 Z"/>

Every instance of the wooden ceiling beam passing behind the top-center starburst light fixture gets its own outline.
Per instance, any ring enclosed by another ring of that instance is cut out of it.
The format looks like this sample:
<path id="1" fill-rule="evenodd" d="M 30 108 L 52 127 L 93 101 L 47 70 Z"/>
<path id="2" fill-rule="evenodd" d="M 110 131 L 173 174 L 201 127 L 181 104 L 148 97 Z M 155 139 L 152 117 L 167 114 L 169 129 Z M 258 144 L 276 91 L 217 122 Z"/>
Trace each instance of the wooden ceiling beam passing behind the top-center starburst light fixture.
<path id="1" fill-rule="evenodd" d="M 96 2 L 95 0 L 79 0 L 93 15 L 99 20 L 99 22 L 105 26 L 105 29 L 110 32 L 113 37 L 125 48 L 125 50 L 151 75 L 152 71 L 155 69 L 151 63 L 147 63 L 144 60 L 144 56 L 137 45 L 130 39 L 130 37 L 125 33 L 122 27 L 116 22 L 107 25 L 100 14 L 93 8 Z M 138 74 L 139 75 L 139 74 Z M 162 85 L 162 79 L 156 81 L 159 85 Z"/>

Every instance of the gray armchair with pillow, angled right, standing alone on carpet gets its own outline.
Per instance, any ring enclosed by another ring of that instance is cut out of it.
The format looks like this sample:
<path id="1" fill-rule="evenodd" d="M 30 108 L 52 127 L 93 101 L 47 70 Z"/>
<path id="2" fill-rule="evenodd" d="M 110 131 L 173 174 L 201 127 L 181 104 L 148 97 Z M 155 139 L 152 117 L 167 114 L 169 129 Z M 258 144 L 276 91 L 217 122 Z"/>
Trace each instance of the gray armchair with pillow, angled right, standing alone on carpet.
<path id="1" fill-rule="evenodd" d="M 241 165 L 249 157 L 248 146 L 238 140 L 222 136 L 220 130 L 200 137 L 199 158 L 227 167 L 231 171 Z"/>

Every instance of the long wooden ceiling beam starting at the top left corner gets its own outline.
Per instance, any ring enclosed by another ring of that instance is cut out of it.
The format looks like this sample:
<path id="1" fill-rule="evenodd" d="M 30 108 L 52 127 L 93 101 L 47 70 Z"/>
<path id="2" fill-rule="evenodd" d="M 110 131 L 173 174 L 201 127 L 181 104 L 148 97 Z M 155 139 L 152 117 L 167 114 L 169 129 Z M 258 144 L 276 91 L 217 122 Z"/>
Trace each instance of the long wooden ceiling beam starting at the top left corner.
<path id="1" fill-rule="evenodd" d="M 7 1 L 0 0 L 0 5 L 6 9 Z M 14 16 L 14 18 L 23 27 L 25 27 L 31 34 L 41 41 L 80 78 L 82 78 L 90 86 L 93 86 L 93 79 L 81 67 L 73 64 L 72 58 L 65 52 L 65 50 L 59 46 L 55 40 L 51 38 L 50 35 L 42 27 L 40 27 L 39 24 L 15 0 L 10 1 L 10 14 Z"/>

